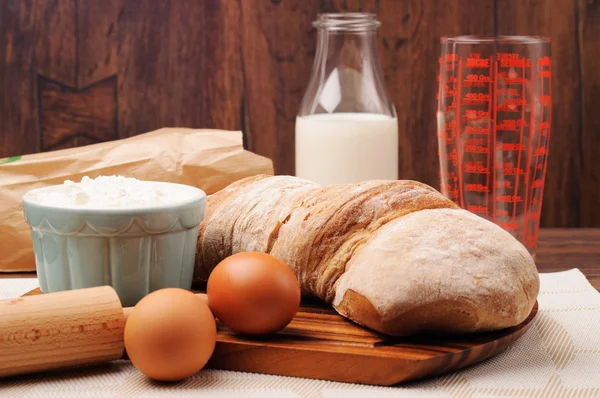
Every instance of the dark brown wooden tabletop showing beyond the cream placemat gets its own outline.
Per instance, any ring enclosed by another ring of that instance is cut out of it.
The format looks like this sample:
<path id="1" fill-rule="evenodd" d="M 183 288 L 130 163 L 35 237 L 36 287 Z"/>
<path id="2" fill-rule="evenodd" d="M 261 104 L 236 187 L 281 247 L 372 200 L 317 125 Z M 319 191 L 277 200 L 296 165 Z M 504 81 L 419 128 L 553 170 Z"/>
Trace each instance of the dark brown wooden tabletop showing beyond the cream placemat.
<path id="1" fill-rule="evenodd" d="M 541 229 L 536 264 L 540 272 L 579 268 L 600 290 L 600 229 Z M 0 273 L 0 278 L 35 278 L 35 273 Z"/>

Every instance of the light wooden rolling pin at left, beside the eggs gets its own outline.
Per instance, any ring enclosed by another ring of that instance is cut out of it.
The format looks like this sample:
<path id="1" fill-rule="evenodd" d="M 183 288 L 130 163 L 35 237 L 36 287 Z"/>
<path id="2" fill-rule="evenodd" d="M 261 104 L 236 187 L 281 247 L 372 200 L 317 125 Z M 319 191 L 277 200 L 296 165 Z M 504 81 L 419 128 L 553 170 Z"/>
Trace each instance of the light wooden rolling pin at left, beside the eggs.
<path id="1" fill-rule="evenodd" d="M 129 311 L 110 286 L 0 301 L 0 377 L 121 358 Z"/>

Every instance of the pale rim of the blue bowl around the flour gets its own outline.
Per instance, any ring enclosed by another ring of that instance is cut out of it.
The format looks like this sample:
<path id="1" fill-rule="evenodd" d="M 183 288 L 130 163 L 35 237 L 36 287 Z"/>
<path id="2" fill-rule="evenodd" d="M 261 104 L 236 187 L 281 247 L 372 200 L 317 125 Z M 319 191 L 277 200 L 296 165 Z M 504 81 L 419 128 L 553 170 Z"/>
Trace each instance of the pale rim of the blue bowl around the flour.
<path id="1" fill-rule="evenodd" d="M 45 187 L 35 188 L 30 191 L 27 191 L 21 198 L 21 201 L 23 203 L 23 210 L 25 210 L 25 211 L 27 210 L 27 208 L 29 208 L 29 209 L 35 208 L 38 210 L 46 210 L 46 211 L 52 211 L 52 212 L 56 212 L 56 213 L 70 213 L 70 214 L 81 214 L 81 215 L 107 215 L 107 216 L 108 215 L 120 216 L 120 215 L 139 215 L 139 214 L 149 214 L 149 213 L 150 214 L 162 213 L 162 212 L 166 212 L 166 211 L 174 211 L 174 210 L 178 210 L 178 209 L 182 209 L 182 208 L 187 208 L 190 206 L 201 205 L 202 203 L 206 202 L 206 198 L 207 198 L 206 192 L 204 192 L 202 189 L 194 187 L 192 185 L 178 184 L 178 183 L 174 183 L 174 182 L 163 182 L 163 181 L 143 181 L 143 182 L 159 184 L 159 185 L 185 187 L 185 189 L 189 189 L 190 191 L 195 191 L 196 195 L 194 195 L 193 197 L 186 199 L 186 200 L 177 201 L 177 202 L 173 202 L 173 203 L 167 203 L 167 204 L 161 204 L 161 205 L 155 205 L 155 206 L 104 207 L 104 208 L 49 205 L 49 204 L 37 202 L 31 198 L 31 196 L 36 193 L 40 193 L 42 191 L 50 190 L 53 188 L 57 189 L 57 187 L 64 186 L 63 184 L 55 184 L 55 185 L 48 185 Z"/>

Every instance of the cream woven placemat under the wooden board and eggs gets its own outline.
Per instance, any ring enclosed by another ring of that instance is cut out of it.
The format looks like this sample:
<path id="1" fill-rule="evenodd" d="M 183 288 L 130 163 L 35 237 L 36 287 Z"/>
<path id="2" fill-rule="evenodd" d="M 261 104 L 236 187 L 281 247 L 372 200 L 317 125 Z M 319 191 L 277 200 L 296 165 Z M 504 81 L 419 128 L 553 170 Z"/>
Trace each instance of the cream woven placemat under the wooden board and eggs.
<path id="1" fill-rule="evenodd" d="M 398 387 L 204 370 L 175 384 L 148 380 L 129 362 L 0 381 L 2 397 L 600 397 L 600 293 L 577 269 L 541 274 L 539 313 L 505 352 L 481 364 Z M 0 279 L 0 299 L 37 287 Z M 2 355 L 2 353 L 0 353 Z"/>

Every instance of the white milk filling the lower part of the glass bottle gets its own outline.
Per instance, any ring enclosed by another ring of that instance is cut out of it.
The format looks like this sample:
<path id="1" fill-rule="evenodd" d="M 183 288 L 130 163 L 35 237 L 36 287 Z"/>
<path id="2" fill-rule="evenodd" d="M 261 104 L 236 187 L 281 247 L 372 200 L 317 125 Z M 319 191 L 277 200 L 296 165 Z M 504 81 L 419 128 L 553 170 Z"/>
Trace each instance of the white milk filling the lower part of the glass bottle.
<path id="1" fill-rule="evenodd" d="M 296 119 L 296 176 L 343 184 L 398 179 L 398 120 L 371 113 Z"/>

